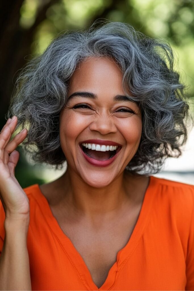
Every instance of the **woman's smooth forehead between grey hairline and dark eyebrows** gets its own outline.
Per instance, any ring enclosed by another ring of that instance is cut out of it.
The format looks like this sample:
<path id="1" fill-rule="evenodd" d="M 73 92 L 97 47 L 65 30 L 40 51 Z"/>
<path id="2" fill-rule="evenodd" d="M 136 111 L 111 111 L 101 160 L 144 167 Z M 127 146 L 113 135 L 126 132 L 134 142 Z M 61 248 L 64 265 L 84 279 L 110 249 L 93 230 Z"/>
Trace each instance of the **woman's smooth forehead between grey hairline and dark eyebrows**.
<path id="1" fill-rule="evenodd" d="M 92 91 L 97 95 L 102 91 L 113 95 L 124 93 L 122 77 L 119 66 L 111 58 L 87 58 L 73 73 L 68 95 L 81 90 Z"/>

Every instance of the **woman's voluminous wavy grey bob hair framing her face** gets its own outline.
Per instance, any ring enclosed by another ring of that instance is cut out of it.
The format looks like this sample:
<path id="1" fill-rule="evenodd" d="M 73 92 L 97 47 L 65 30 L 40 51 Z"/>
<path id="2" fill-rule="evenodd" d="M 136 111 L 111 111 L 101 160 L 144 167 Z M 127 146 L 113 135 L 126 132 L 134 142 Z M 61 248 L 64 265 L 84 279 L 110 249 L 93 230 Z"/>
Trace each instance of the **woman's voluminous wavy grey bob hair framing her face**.
<path id="1" fill-rule="evenodd" d="M 140 106 L 143 130 L 138 150 L 127 170 L 157 173 L 165 158 L 178 157 L 187 138 L 188 103 L 184 85 L 173 70 L 171 47 L 146 37 L 129 24 L 99 21 L 86 31 L 69 31 L 54 39 L 30 61 L 16 82 L 6 118 L 16 115 L 28 128 L 24 149 L 35 162 L 61 168 L 59 114 L 67 100 L 76 67 L 88 57 L 113 58 L 123 72 L 123 89 Z M 35 147 L 34 147 L 35 145 Z"/>

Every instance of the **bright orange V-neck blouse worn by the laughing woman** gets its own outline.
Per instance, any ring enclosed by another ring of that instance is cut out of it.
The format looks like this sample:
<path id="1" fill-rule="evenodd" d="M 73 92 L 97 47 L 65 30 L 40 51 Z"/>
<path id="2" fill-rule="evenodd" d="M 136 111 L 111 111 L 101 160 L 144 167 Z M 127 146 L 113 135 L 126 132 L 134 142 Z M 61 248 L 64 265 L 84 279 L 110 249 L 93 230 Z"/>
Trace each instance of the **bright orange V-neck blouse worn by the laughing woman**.
<path id="1" fill-rule="evenodd" d="M 38 184 L 24 191 L 32 290 L 194 290 L 194 186 L 150 177 L 133 233 L 99 289 Z M 1 204 L 0 251 L 4 219 Z"/>

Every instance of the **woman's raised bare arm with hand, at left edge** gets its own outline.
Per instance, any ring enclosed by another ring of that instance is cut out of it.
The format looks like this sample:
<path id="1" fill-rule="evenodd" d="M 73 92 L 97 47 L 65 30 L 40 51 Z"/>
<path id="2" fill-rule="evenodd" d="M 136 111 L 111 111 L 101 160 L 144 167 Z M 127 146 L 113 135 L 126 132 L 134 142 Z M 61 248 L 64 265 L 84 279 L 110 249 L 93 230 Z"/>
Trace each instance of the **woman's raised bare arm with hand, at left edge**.
<path id="1" fill-rule="evenodd" d="M 0 133 L 0 199 L 5 211 L 5 240 L 0 256 L 0 290 L 31 290 L 27 233 L 29 200 L 15 178 L 19 152 L 26 138 L 24 129 L 10 141 L 17 117 L 8 119 Z"/>

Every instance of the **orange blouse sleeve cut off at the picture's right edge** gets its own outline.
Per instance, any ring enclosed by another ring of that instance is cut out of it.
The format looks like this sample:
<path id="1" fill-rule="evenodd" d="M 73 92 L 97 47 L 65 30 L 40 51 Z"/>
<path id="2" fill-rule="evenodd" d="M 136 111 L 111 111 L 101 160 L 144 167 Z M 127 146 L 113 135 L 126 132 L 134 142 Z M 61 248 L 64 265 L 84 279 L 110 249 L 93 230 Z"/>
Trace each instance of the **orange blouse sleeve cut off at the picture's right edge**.
<path id="1" fill-rule="evenodd" d="M 194 290 L 194 187 L 192 191 L 192 213 L 191 213 L 191 225 L 188 238 L 188 249 L 186 257 L 186 278 L 187 283 L 185 290 Z"/>

